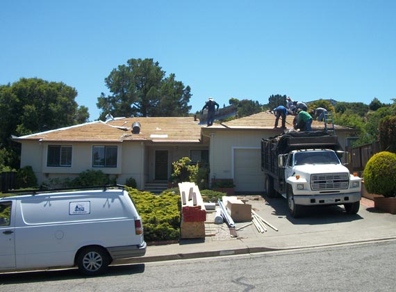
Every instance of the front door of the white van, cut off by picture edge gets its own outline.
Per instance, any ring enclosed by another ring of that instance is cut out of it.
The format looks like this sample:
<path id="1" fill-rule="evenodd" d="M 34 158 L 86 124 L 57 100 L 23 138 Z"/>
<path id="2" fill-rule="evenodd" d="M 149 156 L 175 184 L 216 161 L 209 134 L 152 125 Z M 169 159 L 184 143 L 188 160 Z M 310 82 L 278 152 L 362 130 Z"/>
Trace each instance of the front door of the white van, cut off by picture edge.
<path id="1" fill-rule="evenodd" d="M 12 202 L 0 202 L 0 268 L 15 268 L 15 228 L 11 209 Z"/>

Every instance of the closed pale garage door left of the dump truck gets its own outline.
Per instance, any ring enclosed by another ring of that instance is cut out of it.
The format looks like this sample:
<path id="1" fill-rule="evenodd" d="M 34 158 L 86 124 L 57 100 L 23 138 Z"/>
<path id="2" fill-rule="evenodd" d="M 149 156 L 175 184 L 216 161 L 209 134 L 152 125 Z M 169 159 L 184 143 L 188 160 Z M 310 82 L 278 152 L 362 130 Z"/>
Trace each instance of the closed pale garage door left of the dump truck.
<path id="1" fill-rule="evenodd" d="M 263 192 L 260 149 L 234 149 L 234 184 L 238 192 Z"/>

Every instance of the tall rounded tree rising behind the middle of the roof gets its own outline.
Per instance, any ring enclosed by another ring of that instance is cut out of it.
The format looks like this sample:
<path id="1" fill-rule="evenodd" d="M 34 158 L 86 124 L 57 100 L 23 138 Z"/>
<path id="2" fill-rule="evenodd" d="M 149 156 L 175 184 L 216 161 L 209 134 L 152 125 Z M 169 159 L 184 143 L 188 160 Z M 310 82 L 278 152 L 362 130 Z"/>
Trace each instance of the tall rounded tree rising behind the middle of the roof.
<path id="1" fill-rule="evenodd" d="M 165 71 L 152 58 L 129 59 L 119 65 L 105 79 L 111 95 L 98 97 L 100 119 L 110 113 L 117 117 L 131 116 L 187 116 L 190 86 L 165 77 Z"/>

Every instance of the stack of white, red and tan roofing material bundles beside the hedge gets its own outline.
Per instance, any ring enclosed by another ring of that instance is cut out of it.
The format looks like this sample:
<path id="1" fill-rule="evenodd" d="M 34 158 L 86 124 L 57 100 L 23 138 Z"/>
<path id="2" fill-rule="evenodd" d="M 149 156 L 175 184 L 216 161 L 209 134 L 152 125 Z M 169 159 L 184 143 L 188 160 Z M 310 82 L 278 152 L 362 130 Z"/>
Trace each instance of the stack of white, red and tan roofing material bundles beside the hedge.
<path id="1" fill-rule="evenodd" d="M 205 238 L 206 209 L 194 183 L 179 184 L 181 195 L 181 238 Z"/>

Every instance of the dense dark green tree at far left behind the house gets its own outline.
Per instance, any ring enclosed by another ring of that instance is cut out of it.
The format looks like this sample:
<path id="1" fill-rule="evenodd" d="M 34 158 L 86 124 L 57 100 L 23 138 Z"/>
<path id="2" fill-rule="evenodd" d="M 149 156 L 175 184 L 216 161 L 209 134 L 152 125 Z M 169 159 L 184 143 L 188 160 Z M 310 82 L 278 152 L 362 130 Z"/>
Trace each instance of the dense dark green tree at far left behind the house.
<path id="1" fill-rule="evenodd" d="M 19 79 L 0 86 L 0 147 L 7 149 L 5 162 L 19 168 L 19 145 L 11 135 L 24 136 L 40 131 L 79 124 L 88 120 L 88 108 L 75 102 L 77 92 L 62 82 Z"/>

